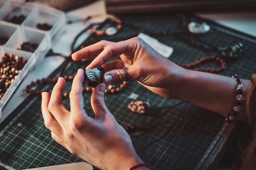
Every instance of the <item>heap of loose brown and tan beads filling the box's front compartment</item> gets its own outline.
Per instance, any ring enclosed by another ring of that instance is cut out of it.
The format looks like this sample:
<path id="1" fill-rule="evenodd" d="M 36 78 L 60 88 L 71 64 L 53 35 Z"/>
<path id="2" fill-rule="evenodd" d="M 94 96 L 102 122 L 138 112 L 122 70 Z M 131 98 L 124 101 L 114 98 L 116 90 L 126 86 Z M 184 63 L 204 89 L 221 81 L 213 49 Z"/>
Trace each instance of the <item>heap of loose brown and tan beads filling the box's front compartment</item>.
<path id="1" fill-rule="evenodd" d="M 0 59 L 0 99 L 27 63 L 23 57 L 4 53 Z"/>

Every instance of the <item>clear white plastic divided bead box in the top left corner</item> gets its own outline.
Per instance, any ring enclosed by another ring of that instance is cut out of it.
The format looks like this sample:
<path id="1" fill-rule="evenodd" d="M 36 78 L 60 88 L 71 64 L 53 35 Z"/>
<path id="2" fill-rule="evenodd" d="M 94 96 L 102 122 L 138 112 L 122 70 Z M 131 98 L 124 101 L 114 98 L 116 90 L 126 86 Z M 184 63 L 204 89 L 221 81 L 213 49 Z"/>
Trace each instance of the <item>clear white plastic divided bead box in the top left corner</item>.
<path id="1" fill-rule="evenodd" d="M 19 16 L 24 16 L 24 20 L 13 22 L 13 17 Z M 49 30 L 38 29 L 38 23 L 47 23 L 52 27 Z M 45 58 L 46 53 L 52 48 L 53 40 L 63 32 L 65 23 L 65 13 L 52 7 L 30 2 L 0 0 L 0 37 L 8 38 L 4 44 L 0 44 L 0 57 L 7 53 L 22 56 L 27 60 L 27 64 L 0 99 L 0 111 L 27 73 Z M 19 46 L 24 42 L 37 44 L 38 47 L 30 52 L 19 50 Z"/>

